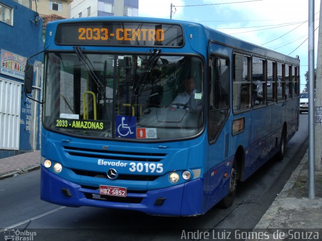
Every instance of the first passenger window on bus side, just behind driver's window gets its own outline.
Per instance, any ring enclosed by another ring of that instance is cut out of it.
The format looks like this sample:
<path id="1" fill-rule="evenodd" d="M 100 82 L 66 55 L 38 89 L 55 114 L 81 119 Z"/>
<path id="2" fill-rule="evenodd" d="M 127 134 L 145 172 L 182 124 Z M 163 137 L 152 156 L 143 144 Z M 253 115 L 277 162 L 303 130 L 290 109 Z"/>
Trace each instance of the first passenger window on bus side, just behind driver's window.
<path id="1" fill-rule="evenodd" d="M 241 54 L 233 56 L 233 111 L 251 107 L 251 81 L 249 76 L 250 57 Z"/>

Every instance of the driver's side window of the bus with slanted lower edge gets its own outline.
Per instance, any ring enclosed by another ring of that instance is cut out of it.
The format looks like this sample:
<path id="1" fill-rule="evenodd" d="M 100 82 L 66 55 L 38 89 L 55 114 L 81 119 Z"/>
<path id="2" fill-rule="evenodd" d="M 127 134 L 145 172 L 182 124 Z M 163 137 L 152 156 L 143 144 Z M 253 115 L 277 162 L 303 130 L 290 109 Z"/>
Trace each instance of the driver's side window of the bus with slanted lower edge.
<path id="1" fill-rule="evenodd" d="M 209 93 L 208 140 L 215 140 L 229 112 L 229 64 L 227 59 L 212 57 Z"/>

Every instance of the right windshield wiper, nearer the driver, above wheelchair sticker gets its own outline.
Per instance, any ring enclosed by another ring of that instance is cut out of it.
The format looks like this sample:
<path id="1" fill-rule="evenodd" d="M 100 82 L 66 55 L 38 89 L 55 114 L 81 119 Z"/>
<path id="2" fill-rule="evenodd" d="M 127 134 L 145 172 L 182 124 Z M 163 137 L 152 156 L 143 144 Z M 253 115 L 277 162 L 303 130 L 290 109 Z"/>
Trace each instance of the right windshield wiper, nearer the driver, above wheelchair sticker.
<path id="1" fill-rule="evenodd" d="M 131 101 L 131 105 L 130 105 L 130 109 L 132 109 L 132 106 L 134 104 L 135 99 L 141 95 L 141 92 L 144 89 L 144 85 L 146 82 L 146 76 L 147 76 L 147 72 L 155 65 L 155 63 L 157 62 L 158 58 L 160 57 L 160 49 L 153 49 L 152 54 L 150 55 L 149 59 L 147 60 L 147 63 L 141 73 L 140 78 L 137 81 L 137 84 L 135 86 L 135 88 L 133 89 L 133 94 L 132 94 L 132 101 Z"/>

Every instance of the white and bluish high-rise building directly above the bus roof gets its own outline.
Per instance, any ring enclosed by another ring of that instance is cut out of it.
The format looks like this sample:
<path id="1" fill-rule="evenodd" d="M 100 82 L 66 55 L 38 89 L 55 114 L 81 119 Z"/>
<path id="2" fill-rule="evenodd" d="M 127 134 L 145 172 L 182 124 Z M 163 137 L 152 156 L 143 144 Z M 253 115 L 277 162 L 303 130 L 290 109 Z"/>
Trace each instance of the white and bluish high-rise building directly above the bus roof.
<path id="1" fill-rule="evenodd" d="M 70 18 L 98 16 L 138 17 L 139 0 L 74 0 Z"/>

